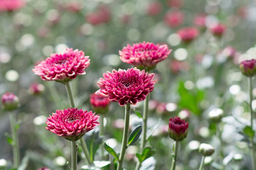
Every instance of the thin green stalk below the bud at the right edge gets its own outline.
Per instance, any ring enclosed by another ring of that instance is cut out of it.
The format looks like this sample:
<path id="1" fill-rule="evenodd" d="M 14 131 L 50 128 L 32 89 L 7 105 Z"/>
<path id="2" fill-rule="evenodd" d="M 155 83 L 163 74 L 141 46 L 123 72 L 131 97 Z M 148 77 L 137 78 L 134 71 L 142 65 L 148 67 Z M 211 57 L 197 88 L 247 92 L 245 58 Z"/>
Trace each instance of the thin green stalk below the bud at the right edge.
<path id="1" fill-rule="evenodd" d="M 254 115 L 253 115 L 253 111 L 252 111 L 252 77 L 249 77 L 249 97 L 250 97 L 250 128 L 252 128 L 253 130 L 253 119 L 254 119 Z M 255 169 L 255 165 L 256 165 L 256 155 L 255 155 L 255 142 L 253 141 L 253 137 L 254 135 L 250 138 L 250 142 L 252 144 L 252 169 Z"/>

